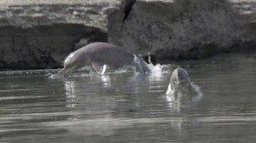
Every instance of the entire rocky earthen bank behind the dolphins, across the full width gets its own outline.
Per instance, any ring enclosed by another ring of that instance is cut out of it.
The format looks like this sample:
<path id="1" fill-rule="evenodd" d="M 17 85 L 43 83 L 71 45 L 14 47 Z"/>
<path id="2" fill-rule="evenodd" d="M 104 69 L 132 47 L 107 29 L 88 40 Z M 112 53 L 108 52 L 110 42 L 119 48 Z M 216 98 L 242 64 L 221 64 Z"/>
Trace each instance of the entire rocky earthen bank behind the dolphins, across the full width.
<path id="1" fill-rule="evenodd" d="M 256 45 L 256 0 L 8 2 L 0 0 L 0 70 L 58 68 L 95 41 L 162 63 Z"/>

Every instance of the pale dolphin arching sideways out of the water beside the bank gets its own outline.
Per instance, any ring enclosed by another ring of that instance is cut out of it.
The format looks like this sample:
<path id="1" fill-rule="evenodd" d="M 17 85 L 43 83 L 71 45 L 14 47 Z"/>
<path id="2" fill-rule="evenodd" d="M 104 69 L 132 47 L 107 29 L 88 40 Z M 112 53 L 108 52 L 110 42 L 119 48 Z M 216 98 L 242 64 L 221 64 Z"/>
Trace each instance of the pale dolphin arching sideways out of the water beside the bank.
<path id="1" fill-rule="evenodd" d="M 92 66 L 99 71 L 103 67 L 101 74 L 104 73 L 106 66 L 114 68 L 122 66 L 135 66 L 137 71 L 150 73 L 150 69 L 140 56 L 135 56 L 132 52 L 122 49 L 109 43 L 91 43 L 69 54 L 64 61 L 64 67 L 56 77 L 63 76 L 74 69 L 84 66 Z"/>

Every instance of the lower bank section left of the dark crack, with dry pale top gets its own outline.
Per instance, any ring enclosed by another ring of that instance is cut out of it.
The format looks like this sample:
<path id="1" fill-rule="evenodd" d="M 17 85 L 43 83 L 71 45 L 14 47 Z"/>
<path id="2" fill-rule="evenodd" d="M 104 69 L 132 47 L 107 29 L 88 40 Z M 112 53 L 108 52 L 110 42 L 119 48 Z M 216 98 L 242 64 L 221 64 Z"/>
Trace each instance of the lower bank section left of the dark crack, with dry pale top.
<path id="1" fill-rule="evenodd" d="M 107 41 L 107 2 L 0 1 L 0 70 L 57 68 L 76 48 Z"/>

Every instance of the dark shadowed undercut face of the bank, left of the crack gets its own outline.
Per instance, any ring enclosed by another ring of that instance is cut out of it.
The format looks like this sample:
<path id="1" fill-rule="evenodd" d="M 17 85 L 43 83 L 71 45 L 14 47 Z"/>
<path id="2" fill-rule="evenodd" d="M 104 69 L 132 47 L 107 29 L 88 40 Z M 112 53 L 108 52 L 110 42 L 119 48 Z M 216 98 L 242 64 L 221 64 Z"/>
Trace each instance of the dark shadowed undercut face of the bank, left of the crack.
<path id="1" fill-rule="evenodd" d="M 99 28 L 78 24 L 53 24 L 21 28 L 0 27 L 0 69 L 57 68 L 80 39 L 87 43 L 106 41 Z"/>

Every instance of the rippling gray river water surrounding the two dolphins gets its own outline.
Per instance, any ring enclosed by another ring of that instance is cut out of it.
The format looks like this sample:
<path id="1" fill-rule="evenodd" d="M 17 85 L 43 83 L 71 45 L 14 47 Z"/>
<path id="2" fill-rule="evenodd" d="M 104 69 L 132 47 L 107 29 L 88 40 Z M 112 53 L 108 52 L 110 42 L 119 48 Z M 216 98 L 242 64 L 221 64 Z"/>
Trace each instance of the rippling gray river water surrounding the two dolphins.
<path id="1" fill-rule="evenodd" d="M 2 72 L 0 142 L 255 142 L 256 54 L 175 64 L 201 87 L 194 106 L 166 101 L 168 72 Z"/>

